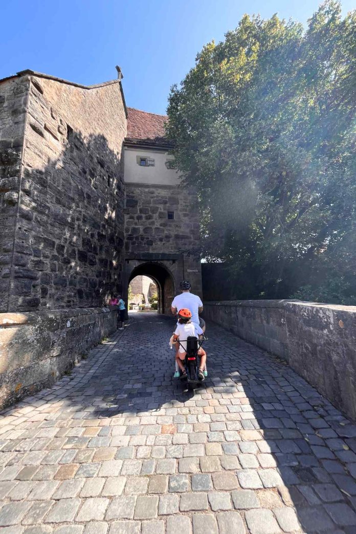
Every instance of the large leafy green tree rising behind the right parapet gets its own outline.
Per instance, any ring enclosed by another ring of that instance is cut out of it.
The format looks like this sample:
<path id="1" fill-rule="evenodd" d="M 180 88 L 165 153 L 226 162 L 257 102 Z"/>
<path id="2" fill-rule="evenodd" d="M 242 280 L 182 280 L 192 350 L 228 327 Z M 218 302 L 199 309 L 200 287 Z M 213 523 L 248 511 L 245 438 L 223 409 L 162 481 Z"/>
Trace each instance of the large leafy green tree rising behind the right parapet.
<path id="1" fill-rule="evenodd" d="M 233 297 L 356 304 L 355 36 L 333 0 L 305 29 L 244 15 L 171 89 L 177 167 Z"/>

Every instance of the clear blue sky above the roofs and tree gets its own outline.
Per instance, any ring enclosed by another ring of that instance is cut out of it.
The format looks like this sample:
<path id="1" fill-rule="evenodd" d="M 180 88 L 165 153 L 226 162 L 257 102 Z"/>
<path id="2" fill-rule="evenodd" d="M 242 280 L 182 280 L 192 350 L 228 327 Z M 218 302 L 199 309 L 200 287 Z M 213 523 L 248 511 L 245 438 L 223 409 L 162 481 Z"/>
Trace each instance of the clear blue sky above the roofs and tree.
<path id="1" fill-rule="evenodd" d="M 82 84 L 124 74 L 129 106 L 165 113 L 196 53 L 244 13 L 305 23 L 315 0 L 0 0 L 0 78 L 30 68 Z M 343 11 L 354 7 L 344 0 Z"/>

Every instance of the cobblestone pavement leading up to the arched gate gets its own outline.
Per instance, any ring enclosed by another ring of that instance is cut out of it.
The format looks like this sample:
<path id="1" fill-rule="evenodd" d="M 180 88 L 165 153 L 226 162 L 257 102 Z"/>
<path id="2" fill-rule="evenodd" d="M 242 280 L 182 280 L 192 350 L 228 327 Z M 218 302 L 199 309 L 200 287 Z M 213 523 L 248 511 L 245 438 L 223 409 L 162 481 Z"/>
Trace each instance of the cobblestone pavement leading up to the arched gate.
<path id="1" fill-rule="evenodd" d="M 208 325 L 172 379 L 171 318 L 136 314 L 3 412 L 2 534 L 356 532 L 356 427 L 290 368 Z"/>

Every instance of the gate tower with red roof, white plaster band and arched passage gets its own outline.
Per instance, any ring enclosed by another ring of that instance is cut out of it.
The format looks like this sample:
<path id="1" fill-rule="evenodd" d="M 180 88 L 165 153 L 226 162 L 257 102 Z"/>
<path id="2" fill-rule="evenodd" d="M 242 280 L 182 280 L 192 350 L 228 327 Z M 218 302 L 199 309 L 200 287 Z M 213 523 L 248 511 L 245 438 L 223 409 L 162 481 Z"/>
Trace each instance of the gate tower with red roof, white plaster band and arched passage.
<path id="1" fill-rule="evenodd" d="M 181 185 L 165 138 L 166 120 L 129 107 L 124 139 L 124 288 L 138 274 L 151 277 L 163 313 L 170 312 L 181 279 L 201 293 L 196 192 Z"/>

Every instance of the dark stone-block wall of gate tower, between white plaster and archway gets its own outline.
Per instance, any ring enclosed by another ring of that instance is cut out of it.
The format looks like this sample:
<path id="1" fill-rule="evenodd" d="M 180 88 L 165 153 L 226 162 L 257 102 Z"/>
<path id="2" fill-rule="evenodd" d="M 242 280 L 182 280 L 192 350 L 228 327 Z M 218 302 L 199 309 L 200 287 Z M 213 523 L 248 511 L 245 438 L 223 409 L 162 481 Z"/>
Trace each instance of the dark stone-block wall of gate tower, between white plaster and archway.
<path id="1" fill-rule="evenodd" d="M 174 212 L 173 219 L 168 219 L 168 211 Z M 170 254 L 179 255 L 176 293 L 180 280 L 188 278 L 194 293 L 201 295 L 200 227 L 194 190 L 184 186 L 126 184 L 125 256 L 139 259 L 140 254 L 146 257 L 161 254 L 167 258 Z M 172 262 L 169 270 L 177 272 L 177 265 Z"/>

